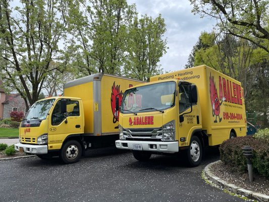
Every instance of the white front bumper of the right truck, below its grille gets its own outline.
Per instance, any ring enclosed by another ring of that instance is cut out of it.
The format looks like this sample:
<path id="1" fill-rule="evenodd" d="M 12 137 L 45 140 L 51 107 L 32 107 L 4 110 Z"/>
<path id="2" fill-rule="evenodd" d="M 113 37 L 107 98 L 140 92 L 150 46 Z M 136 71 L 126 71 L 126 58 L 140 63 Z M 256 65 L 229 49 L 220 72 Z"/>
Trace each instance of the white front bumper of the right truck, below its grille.
<path id="1" fill-rule="evenodd" d="M 178 141 L 156 142 L 156 141 L 116 140 L 115 143 L 116 147 L 120 149 L 133 150 L 133 145 L 136 144 L 141 145 L 143 151 L 152 151 L 160 153 L 177 153 L 179 151 Z"/>

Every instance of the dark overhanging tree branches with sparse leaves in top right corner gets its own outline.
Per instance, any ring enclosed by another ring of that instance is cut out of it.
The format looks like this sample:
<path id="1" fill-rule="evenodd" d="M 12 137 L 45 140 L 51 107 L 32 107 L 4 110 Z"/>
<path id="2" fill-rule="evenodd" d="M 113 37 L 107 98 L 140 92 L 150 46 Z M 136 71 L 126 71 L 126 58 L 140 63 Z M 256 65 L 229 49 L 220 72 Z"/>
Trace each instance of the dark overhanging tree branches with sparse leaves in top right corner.
<path id="1" fill-rule="evenodd" d="M 221 31 L 246 39 L 269 53 L 267 0 L 189 0 L 193 12 L 218 20 Z"/>

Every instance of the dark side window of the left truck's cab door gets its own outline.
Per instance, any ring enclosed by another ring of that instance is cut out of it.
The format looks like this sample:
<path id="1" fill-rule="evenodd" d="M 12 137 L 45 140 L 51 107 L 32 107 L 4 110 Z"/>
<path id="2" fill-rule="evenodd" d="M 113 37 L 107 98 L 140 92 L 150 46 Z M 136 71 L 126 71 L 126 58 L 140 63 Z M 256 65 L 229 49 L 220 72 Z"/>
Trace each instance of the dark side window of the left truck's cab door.
<path id="1" fill-rule="evenodd" d="M 67 113 L 66 117 L 79 116 L 79 103 L 76 100 L 67 100 Z M 65 120 L 64 114 L 61 113 L 61 100 L 59 100 L 52 112 L 51 125 L 57 126 Z"/>

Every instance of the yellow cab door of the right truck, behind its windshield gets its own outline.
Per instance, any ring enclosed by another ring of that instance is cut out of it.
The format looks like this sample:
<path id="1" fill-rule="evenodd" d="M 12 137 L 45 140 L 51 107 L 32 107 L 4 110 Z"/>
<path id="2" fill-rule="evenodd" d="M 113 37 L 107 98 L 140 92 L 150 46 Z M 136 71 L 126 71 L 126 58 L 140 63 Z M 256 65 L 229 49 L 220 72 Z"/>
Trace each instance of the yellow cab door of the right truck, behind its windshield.
<path id="1" fill-rule="evenodd" d="M 191 103 L 191 88 L 190 83 L 182 82 L 179 85 L 179 140 L 185 138 L 186 141 L 180 141 L 179 146 L 188 146 L 192 132 L 199 128 L 200 112 L 197 107 L 197 102 Z M 197 91 L 196 91 L 197 93 Z"/>

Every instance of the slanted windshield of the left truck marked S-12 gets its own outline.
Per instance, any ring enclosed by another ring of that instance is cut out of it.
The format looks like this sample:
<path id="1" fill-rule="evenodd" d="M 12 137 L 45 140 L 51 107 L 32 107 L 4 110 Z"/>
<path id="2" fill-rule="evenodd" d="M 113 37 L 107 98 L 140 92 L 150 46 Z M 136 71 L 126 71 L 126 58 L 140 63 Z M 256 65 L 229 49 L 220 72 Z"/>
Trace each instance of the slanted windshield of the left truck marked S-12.
<path id="1" fill-rule="evenodd" d="M 39 102 L 36 102 L 32 105 L 32 107 L 27 112 L 25 119 L 39 119 L 44 120 L 47 116 L 47 113 L 55 102 L 55 99 L 44 99 Z"/>

